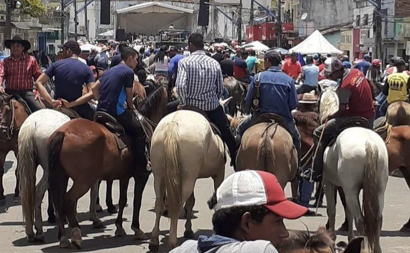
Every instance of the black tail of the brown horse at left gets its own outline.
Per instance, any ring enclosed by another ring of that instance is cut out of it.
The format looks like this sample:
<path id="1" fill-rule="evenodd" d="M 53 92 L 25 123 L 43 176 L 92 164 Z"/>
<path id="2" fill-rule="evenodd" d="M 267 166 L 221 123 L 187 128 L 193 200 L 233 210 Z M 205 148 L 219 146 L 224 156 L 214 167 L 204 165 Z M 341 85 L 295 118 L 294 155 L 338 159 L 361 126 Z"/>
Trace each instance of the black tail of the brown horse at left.
<path id="1" fill-rule="evenodd" d="M 66 189 L 63 189 L 63 181 L 66 174 L 62 169 L 62 164 L 60 161 L 60 152 L 64 142 L 64 137 L 64 132 L 55 132 L 51 136 L 51 142 L 48 145 L 49 193 L 52 195 L 51 199 L 57 214 L 60 214 L 62 211 L 62 197 L 66 191 Z"/>

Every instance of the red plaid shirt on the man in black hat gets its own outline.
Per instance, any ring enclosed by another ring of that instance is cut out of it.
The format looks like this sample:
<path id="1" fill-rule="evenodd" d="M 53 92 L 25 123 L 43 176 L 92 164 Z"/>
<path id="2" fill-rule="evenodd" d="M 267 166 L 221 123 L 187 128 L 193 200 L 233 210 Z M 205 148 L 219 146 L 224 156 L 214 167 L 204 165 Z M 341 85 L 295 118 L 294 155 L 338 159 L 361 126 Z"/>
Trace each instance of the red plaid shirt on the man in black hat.
<path id="1" fill-rule="evenodd" d="M 39 64 L 31 55 L 22 54 L 20 59 L 12 55 L 0 61 L 0 84 L 5 80 L 6 89 L 32 90 L 33 82 L 40 75 Z"/>

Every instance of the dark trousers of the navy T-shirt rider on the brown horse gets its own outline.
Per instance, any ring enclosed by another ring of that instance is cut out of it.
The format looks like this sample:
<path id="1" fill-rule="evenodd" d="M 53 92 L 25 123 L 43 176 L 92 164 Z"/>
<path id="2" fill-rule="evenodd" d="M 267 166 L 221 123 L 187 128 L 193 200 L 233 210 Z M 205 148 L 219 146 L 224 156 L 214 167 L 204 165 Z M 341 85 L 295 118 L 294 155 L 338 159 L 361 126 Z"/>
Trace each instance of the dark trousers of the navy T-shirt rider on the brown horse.
<path id="1" fill-rule="evenodd" d="M 130 136 L 134 154 L 134 165 L 138 171 L 146 171 L 147 158 L 145 156 L 145 133 L 140 121 L 131 109 L 116 115 L 115 118 L 123 125 L 125 132 Z M 142 166 L 138 166 L 142 164 Z"/>

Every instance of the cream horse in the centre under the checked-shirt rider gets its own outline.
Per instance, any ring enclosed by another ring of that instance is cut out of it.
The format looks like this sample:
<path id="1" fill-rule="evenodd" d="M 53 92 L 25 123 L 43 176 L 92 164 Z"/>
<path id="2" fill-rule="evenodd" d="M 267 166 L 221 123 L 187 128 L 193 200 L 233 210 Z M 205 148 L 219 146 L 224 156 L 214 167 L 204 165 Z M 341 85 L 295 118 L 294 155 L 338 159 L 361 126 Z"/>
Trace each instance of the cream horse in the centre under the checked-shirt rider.
<path id="1" fill-rule="evenodd" d="M 171 219 L 169 246 L 177 246 L 179 211 L 185 203 L 187 217 L 184 237 L 192 238 L 192 209 L 195 181 L 211 177 L 214 190 L 225 177 L 225 144 L 208 120 L 190 110 L 178 110 L 165 116 L 155 128 L 151 146 L 151 168 L 154 174 L 155 224 L 149 250 L 158 251 L 161 211 L 165 202 Z"/>

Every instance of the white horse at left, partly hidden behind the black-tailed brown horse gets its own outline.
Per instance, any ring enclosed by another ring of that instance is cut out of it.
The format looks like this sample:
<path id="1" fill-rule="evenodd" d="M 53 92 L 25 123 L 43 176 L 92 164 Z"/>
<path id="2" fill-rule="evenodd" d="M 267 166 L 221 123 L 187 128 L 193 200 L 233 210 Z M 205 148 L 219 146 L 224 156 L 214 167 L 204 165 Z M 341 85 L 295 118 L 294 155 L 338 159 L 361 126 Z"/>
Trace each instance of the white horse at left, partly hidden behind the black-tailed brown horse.
<path id="1" fill-rule="evenodd" d="M 48 153 L 47 140 L 50 135 L 70 118 L 53 109 L 41 109 L 30 116 L 21 125 L 19 132 L 18 175 L 20 178 L 21 207 L 25 220 L 25 233 L 29 242 L 44 241 L 41 217 L 41 201 L 48 189 Z M 41 165 L 43 175 L 36 186 L 37 166 Z M 51 194 L 49 206 L 51 205 Z M 33 232 L 36 217 L 36 235 Z M 55 222 L 54 211 L 48 210 L 48 221 Z"/>

